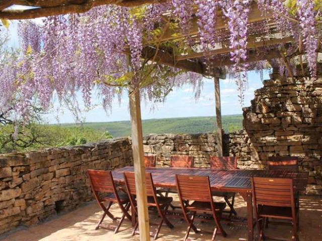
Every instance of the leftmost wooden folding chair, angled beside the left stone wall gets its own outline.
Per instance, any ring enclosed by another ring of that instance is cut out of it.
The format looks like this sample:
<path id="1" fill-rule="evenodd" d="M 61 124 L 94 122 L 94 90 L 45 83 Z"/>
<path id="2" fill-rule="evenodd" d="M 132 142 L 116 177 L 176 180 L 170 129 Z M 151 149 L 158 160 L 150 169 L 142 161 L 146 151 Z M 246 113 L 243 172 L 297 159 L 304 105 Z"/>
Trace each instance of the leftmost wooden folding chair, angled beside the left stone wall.
<path id="1" fill-rule="evenodd" d="M 98 222 L 96 229 L 103 227 L 114 230 L 114 233 L 117 233 L 125 217 L 127 217 L 130 221 L 132 220 L 131 215 L 128 213 L 128 210 L 131 206 L 129 197 L 126 193 L 117 190 L 111 171 L 87 170 L 87 173 L 90 178 L 94 197 L 98 205 L 104 211 L 104 214 L 101 220 Z M 105 206 L 104 202 L 109 203 L 107 206 Z M 118 225 L 112 226 L 102 224 L 106 215 L 109 216 L 112 220 L 119 219 L 119 217 L 114 217 L 114 215 L 109 211 L 113 203 L 117 203 L 123 212 Z"/>

